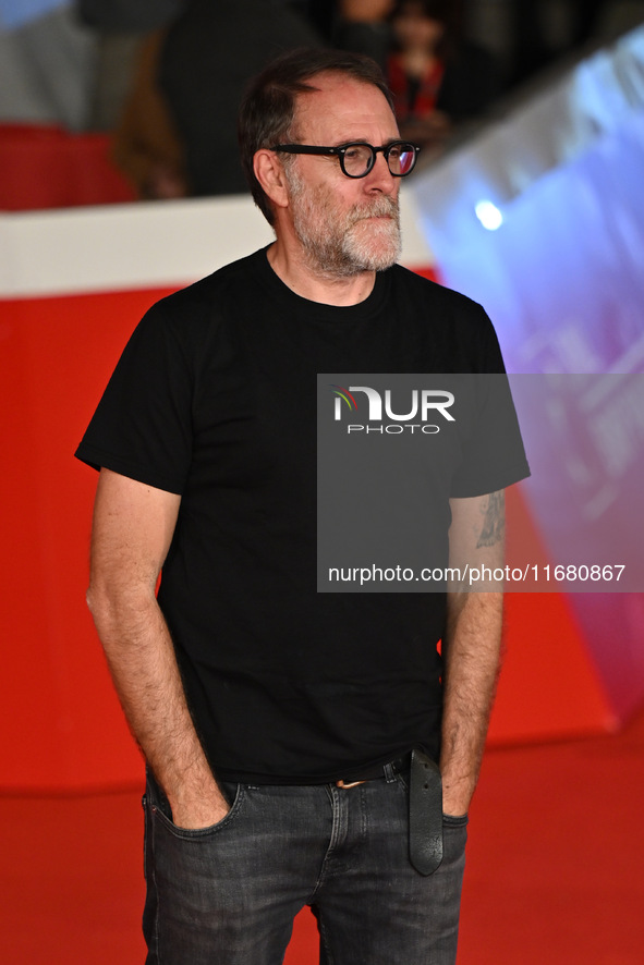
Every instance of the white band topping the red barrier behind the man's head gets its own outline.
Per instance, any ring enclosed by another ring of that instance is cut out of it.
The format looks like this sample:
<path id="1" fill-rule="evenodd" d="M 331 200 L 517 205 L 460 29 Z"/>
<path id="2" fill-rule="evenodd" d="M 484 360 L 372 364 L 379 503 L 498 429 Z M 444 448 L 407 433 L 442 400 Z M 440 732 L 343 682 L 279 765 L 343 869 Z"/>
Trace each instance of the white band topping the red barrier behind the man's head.
<path id="1" fill-rule="evenodd" d="M 401 193 L 402 261 L 434 259 Z M 181 285 L 267 245 L 250 196 L 145 201 L 0 216 L 0 297 Z"/>

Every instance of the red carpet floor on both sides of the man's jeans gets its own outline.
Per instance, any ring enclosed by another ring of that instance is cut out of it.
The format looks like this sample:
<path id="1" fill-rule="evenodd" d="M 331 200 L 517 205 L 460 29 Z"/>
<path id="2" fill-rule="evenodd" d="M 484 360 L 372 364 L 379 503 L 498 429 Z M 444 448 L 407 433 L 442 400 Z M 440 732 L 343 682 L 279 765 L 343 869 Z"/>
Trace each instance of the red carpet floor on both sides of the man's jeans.
<path id="1" fill-rule="evenodd" d="M 3 965 L 142 965 L 137 798 L 0 798 Z M 644 714 L 617 736 L 490 750 L 459 965 L 642 965 L 643 809 Z M 308 913 L 285 961 L 317 962 Z"/>

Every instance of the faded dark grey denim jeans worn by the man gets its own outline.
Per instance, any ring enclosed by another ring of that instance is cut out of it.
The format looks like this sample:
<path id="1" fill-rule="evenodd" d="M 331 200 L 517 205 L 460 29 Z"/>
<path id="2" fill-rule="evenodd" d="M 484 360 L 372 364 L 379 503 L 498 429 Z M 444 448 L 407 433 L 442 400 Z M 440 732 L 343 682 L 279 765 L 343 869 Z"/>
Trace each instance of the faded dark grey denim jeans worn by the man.
<path id="1" fill-rule="evenodd" d="M 147 965 L 278 965 L 304 905 L 324 965 L 453 965 L 466 818 L 445 818 L 443 860 L 425 878 L 409 860 L 403 775 L 223 791 L 226 818 L 185 831 L 148 781 Z"/>

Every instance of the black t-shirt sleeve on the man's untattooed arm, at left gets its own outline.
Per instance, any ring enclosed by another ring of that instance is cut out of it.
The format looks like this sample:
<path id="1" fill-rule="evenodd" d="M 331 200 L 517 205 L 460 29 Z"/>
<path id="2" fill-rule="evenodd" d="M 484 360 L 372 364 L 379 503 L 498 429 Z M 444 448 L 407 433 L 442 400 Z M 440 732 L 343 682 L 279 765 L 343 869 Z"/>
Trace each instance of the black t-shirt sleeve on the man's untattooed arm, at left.
<path id="1" fill-rule="evenodd" d="M 162 303 L 144 316 L 105 390 L 76 457 L 182 493 L 192 460 L 194 371 Z"/>

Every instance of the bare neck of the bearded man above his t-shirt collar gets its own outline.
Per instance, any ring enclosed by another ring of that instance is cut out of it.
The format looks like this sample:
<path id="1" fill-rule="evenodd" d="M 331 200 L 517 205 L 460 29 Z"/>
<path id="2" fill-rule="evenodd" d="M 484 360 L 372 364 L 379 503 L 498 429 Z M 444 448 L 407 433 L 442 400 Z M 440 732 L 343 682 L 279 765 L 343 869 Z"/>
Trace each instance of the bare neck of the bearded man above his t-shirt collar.
<path id="1" fill-rule="evenodd" d="M 375 271 L 361 271 L 349 278 L 315 271 L 303 254 L 289 252 L 279 241 L 269 247 L 267 257 L 277 277 L 292 292 L 324 305 L 357 305 L 368 298 L 376 282 Z"/>

